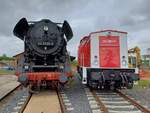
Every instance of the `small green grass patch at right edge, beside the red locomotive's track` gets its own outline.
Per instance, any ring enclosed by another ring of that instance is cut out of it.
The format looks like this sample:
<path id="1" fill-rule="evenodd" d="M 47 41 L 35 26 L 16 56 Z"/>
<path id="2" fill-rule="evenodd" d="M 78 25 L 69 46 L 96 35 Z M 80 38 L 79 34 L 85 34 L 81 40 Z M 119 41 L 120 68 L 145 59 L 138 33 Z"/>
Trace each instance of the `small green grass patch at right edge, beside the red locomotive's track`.
<path id="1" fill-rule="evenodd" d="M 150 80 L 139 80 L 134 86 L 137 88 L 150 88 Z"/>

